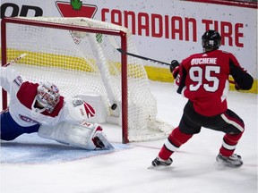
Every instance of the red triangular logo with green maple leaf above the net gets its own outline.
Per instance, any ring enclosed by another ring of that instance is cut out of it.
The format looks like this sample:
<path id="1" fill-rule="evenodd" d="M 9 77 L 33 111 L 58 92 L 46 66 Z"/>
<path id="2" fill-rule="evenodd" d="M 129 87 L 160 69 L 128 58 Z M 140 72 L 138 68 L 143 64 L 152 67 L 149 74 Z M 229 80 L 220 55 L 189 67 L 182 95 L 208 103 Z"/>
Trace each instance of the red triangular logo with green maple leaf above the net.
<path id="1" fill-rule="evenodd" d="M 93 18 L 98 8 L 94 4 L 82 4 L 80 0 L 71 0 L 70 3 L 56 1 L 56 7 L 63 17 Z"/>

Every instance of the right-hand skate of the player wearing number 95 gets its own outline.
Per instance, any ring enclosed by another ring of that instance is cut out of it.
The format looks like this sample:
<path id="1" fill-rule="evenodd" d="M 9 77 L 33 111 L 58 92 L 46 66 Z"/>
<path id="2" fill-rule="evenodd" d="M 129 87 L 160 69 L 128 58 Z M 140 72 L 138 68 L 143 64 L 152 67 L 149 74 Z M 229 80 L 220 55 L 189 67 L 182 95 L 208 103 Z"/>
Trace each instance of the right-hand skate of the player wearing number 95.
<path id="1" fill-rule="evenodd" d="M 241 159 L 240 155 L 233 154 L 229 157 L 223 156 L 223 155 L 217 155 L 216 157 L 217 163 L 223 166 L 227 167 L 240 167 L 243 164 L 243 161 Z"/>

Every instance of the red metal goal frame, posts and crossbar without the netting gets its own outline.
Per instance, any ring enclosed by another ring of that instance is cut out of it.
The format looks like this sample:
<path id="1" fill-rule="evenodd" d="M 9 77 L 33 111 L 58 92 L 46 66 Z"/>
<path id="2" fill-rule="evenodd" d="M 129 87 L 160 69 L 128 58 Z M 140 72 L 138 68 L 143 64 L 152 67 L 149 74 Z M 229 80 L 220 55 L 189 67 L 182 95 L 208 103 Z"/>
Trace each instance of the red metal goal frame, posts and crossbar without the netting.
<path id="1" fill-rule="evenodd" d="M 2 66 L 7 63 L 6 49 L 7 49 L 7 39 L 6 34 L 6 24 L 7 23 L 16 23 L 22 25 L 31 25 L 52 29 L 66 29 L 66 30 L 76 30 L 82 32 L 89 33 L 100 33 L 106 35 L 117 36 L 121 38 L 121 49 L 127 51 L 127 38 L 126 33 L 121 30 L 113 30 L 113 29 L 97 29 L 90 27 L 80 27 L 80 26 L 72 26 L 60 23 L 48 23 L 45 21 L 30 21 L 22 18 L 12 18 L 6 17 L 1 21 L 1 54 L 2 54 Z M 128 143 L 128 102 L 127 102 L 127 55 L 121 55 L 121 84 L 122 84 L 122 143 Z M 2 108 L 3 110 L 7 108 L 7 93 L 2 88 Z"/>

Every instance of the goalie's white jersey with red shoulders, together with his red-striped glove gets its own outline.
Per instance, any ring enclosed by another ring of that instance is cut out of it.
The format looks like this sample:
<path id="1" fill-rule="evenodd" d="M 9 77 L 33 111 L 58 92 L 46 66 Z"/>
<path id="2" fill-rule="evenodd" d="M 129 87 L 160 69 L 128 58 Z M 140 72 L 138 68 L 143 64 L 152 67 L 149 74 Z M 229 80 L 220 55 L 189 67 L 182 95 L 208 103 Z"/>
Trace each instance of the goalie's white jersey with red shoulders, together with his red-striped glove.
<path id="1" fill-rule="evenodd" d="M 8 67 L 1 68 L 1 87 L 9 93 L 8 108 L 13 120 L 23 127 L 34 124 L 54 126 L 58 122 L 87 122 L 95 115 L 93 107 L 81 98 L 63 96 L 60 96 L 53 112 L 37 112 L 34 104 L 39 84 L 22 81 L 22 77 Z"/>

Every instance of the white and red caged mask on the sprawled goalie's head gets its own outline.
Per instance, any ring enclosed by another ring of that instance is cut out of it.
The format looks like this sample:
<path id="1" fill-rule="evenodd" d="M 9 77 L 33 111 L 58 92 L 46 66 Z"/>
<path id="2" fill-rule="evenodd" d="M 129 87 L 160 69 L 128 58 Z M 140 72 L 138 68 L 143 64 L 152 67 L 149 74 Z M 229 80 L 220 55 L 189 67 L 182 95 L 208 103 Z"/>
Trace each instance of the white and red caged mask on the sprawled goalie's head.
<path id="1" fill-rule="evenodd" d="M 50 82 L 40 83 L 36 100 L 48 113 L 51 113 L 59 102 L 59 89 Z"/>

